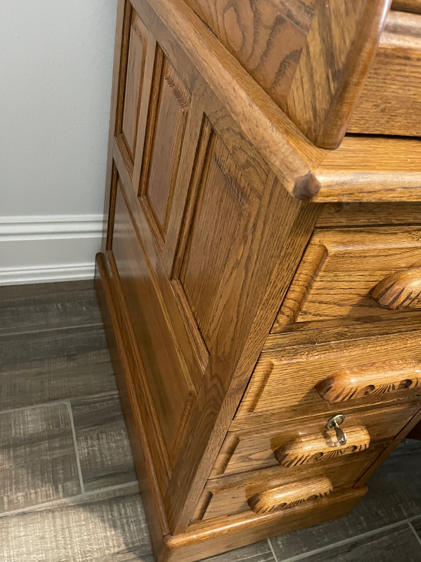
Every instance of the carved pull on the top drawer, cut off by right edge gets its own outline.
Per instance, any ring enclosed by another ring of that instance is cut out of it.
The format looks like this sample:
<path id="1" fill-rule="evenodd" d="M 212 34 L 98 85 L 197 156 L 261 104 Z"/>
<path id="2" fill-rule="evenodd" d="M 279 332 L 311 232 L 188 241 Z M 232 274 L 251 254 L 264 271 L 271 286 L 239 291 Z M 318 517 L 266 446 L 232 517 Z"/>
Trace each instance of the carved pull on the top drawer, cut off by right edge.
<path id="1" fill-rule="evenodd" d="M 401 269 L 387 275 L 372 288 L 370 294 L 383 309 L 399 310 L 418 304 L 421 295 L 421 268 Z"/>

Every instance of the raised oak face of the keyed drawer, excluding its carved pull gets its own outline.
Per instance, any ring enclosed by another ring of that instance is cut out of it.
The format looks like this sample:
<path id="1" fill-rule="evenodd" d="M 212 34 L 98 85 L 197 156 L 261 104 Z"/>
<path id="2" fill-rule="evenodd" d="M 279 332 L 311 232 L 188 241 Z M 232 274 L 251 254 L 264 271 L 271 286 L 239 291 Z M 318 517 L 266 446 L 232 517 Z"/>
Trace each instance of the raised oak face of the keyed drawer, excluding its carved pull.
<path id="1" fill-rule="evenodd" d="M 347 404 L 346 406 L 349 406 Z M 370 408 L 341 409 L 345 404 L 337 405 L 337 413 L 344 414 L 346 419 L 341 424 L 341 429 L 349 433 L 350 428 L 363 426 L 367 428 L 370 436 L 368 450 L 353 452 L 356 461 L 367 465 L 372 461 L 374 448 L 385 448 L 400 430 L 419 410 L 419 403 L 405 402 L 404 404 L 383 406 L 377 405 Z M 287 422 L 271 423 L 259 427 L 230 431 L 219 452 L 211 477 L 221 477 L 228 474 L 239 474 L 248 470 L 277 466 L 278 462 L 274 451 L 285 443 L 311 435 L 326 436 L 326 423 L 331 414 L 323 414 L 314 418 L 302 418 Z M 382 445 L 383 443 L 383 445 Z M 229 454 L 228 454 L 229 451 Z M 366 452 L 367 451 L 367 452 Z M 310 464 L 319 466 L 324 470 L 336 457 L 341 457 L 344 451 L 333 448 L 327 458 L 315 458 L 306 462 L 305 466 L 283 467 L 286 473 L 290 470 L 300 468 L 299 474 L 305 473 L 305 467 Z M 378 453 L 379 454 L 379 453 Z M 303 453 L 304 455 L 304 453 Z M 347 455 L 348 456 L 348 455 Z M 371 460 L 370 460 L 371 459 Z M 303 459 L 301 459 L 302 461 Z M 347 463 L 349 458 L 344 458 Z M 283 473 L 283 471 L 281 470 Z"/>

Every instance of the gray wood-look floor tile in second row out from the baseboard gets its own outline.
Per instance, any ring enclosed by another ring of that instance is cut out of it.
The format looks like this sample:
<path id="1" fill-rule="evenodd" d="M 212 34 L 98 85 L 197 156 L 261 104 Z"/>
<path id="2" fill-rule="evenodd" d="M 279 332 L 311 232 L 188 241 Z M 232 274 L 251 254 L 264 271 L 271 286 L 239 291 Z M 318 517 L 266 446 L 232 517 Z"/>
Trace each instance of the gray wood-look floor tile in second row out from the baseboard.
<path id="1" fill-rule="evenodd" d="M 117 392 L 102 327 L 0 338 L 0 411 Z"/>

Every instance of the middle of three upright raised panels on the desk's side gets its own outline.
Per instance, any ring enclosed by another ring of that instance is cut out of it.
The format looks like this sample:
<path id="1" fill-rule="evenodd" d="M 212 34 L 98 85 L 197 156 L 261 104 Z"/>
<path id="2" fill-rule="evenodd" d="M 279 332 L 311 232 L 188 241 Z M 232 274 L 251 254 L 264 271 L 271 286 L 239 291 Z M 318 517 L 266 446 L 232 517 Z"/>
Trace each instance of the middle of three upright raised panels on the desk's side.
<path id="1" fill-rule="evenodd" d="M 166 58 L 157 61 L 151 98 L 147 149 L 140 178 L 140 197 L 149 206 L 161 237 L 166 239 L 179 170 L 181 147 L 190 107 L 190 93 Z M 146 212 L 148 212 L 146 210 Z"/>

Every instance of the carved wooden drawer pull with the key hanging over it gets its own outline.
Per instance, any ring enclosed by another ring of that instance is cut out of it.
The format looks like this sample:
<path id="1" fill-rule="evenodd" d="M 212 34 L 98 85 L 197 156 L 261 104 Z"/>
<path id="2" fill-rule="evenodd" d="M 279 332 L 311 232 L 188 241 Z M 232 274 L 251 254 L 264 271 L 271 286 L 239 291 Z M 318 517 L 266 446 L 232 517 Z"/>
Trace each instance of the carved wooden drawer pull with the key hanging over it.
<path id="1" fill-rule="evenodd" d="M 342 416 L 342 419 L 344 418 L 345 416 Z M 369 445 L 370 435 L 367 428 L 358 426 L 346 429 L 344 444 L 338 441 L 335 429 L 326 429 L 322 433 L 313 433 L 284 443 L 273 454 L 279 464 L 290 468 L 315 460 L 364 451 Z"/>

